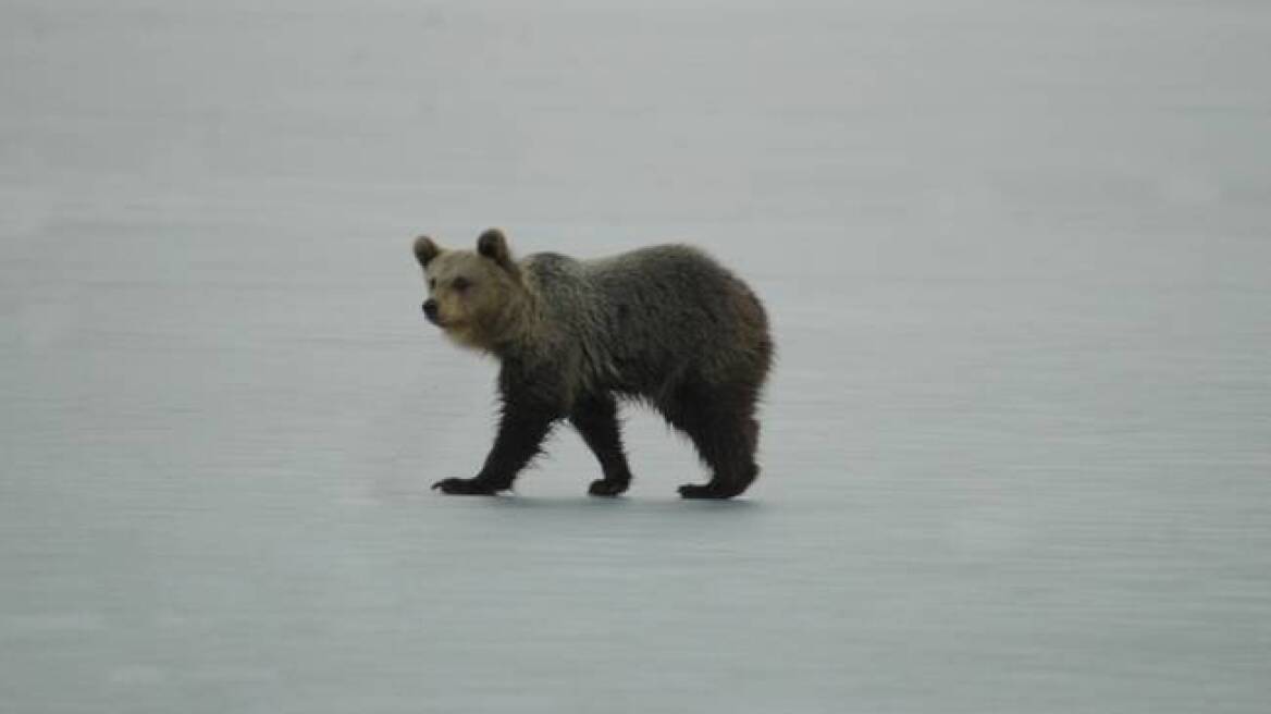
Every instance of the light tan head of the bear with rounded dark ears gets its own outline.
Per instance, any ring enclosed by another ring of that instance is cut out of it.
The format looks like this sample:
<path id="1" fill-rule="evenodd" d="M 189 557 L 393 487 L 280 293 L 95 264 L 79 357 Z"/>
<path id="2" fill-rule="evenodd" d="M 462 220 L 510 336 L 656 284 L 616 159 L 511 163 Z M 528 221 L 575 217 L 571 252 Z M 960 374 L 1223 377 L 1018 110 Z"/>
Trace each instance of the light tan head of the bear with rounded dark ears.
<path id="1" fill-rule="evenodd" d="M 423 314 L 455 343 L 493 352 L 522 327 L 527 293 L 498 229 L 480 234 L 477 250 L 446 250 L 423 235 L 414 257 L 428 283 Z"/>

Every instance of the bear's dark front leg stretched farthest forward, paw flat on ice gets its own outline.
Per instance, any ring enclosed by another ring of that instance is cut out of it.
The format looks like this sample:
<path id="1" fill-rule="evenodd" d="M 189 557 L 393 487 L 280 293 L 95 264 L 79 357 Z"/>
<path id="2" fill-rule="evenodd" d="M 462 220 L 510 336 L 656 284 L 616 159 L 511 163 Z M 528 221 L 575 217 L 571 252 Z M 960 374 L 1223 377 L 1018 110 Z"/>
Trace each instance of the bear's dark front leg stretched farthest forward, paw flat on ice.
<path id="1" fill-rule="evenodd" d="M 470 479 L 442 479 L 432 488 L 451 495 L 494 495 L 512 488 L 516 474 L 539 454 L 557 418 L 550 409 L 508 401 L 480 473 Z"/>

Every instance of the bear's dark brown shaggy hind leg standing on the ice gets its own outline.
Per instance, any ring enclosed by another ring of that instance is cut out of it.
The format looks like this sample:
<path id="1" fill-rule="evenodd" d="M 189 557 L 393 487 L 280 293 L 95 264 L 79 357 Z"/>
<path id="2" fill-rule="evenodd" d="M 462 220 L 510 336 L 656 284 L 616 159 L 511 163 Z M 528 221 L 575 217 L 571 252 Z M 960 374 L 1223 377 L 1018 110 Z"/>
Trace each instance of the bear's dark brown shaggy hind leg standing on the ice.
<path id="1" fill-rule="evenodd" d="M 732 498 L 759 475 L 755 448 L 759 422 L 754 419 L 755 391 L 750 389 L 690 389 L 662 408 L 666 419 L 693 440 L 710 468 L 705 484 L 684 484 L 684 498 Z"/>

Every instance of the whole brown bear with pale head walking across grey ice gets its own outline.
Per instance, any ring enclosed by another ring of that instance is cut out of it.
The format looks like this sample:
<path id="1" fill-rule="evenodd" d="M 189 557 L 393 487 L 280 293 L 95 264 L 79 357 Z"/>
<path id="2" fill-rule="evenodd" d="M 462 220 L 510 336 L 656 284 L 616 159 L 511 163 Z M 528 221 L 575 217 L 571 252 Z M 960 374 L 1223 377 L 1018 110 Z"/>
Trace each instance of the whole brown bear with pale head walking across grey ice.
<path id="1" fill-rule="evenodd" d="M 501 362 L 502 415 L 480 473 L 435 489 L 494 494 L 568 419 L 596 454 L 592 495 L 627 490 L 616 399 L 652 405 L 693 440 L 710 468 L 684 498 L 732 498 L 759 466 L 755 403 L 773 360 L 768 316 L 754 292 L 708 255 L 658 245 L 597 260 L 538 253 L 515 260 L 491 229 L 477 250 L 422 236 L 423 314 L 454 342 Z"/>

